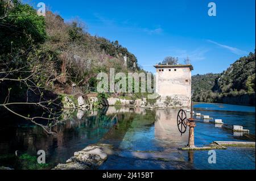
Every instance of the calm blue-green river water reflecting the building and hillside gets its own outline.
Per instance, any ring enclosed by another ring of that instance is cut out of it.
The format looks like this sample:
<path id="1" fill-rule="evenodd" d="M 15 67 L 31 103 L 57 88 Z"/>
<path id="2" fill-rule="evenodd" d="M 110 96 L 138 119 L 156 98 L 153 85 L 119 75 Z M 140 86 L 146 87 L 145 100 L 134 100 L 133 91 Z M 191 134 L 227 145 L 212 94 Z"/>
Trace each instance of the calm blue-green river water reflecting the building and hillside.
<path id="1" fill-rule="evenodd" d="M 255 141 L 255 107 L 196 103 L 194 109 L 225 123 L 220 127 L 198 117 L 196 146 L 213 141 Z M 188 132 L 181 136 L 177 129 L 178 111 L 124 107 L 66 110 L 64 124 L 54 128 L 56 134 L 52 135 L 26 121 L 6 120 L 0 128 L 0 166 L 52 169 L 75 151 L 105 143 L 113 145 L 113 154 L 100 169 L 255 169 L 255 148 L 216 150 L 216 164 L 208 163 L 208 151 L 180 150 L 187 144 Z M 232 125 L 243 125 L 250 134 L 234 134 L 229 129 Z M 46 151 L 46 166 L 35 163 L 38 150 Z"/>

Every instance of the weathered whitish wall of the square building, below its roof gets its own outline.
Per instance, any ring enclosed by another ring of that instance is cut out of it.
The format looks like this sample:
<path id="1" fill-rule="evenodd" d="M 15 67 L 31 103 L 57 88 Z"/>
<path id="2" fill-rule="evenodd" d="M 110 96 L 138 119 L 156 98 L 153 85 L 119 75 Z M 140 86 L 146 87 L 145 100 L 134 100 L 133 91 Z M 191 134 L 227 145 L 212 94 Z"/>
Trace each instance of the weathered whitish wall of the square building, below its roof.
<path id="1" fill-rule="evenodd" d="M 160 107 L 166 96 L 171 96 L 181 102 L 180 107 L 191 106 L 191 69 L 190 68 L 161 68 L 156 70 L 156 93 L 161 96 Z M 176 69 L 176 71 L 175 71 Z M 179 106 L 179 105 L 177 105 Z"/>

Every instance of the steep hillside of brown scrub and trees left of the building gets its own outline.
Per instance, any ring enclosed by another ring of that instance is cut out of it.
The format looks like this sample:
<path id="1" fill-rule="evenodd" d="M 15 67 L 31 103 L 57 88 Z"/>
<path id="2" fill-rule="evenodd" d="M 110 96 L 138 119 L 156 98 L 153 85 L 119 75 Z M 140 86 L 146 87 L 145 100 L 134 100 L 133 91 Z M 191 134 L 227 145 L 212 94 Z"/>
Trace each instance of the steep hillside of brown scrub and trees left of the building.
<path id="1" fill-rule="evenodd" d="M 84 23 L 65 23 L 51 11 L 39 16 L 18 0 L 0 1 L 0 39 L 1 112 L 36 124 L 43 119 L 55 125 L 59 95 L 95 91 L 98 73 L 109 73 L 110 68 L 116 73 L 143 71 L 118 41 L 91 36 Z M 32 107 L 41 111 L 31 111 Z"/>

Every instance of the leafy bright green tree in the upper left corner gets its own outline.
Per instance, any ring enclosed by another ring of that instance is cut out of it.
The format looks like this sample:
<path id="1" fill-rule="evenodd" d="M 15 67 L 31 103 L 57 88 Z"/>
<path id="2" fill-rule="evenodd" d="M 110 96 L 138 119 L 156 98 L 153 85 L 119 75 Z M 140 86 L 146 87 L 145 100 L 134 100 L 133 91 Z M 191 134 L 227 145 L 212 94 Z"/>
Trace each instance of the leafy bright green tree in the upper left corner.
<path id="1" fill-rule="evenodd" d="M 46 40 L 46 23 L 43 16 L 38 16 L 36 10 L 13 0 L 12 5 L 7 1 L 0 2 L 0 54 L 27 52 L 34 45 Z M 9 14 L 5 11 L 9 6 Z"/>

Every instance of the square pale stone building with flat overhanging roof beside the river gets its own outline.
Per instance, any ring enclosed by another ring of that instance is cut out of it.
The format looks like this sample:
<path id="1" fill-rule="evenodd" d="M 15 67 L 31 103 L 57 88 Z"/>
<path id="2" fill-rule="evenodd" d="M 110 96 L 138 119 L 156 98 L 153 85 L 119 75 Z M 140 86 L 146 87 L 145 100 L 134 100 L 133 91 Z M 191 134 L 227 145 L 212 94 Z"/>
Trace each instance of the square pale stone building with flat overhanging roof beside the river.
<path id="1" fill-rule="evenodd" d="M 159 107 L 191 106 L 192 65 L 155 65 Z M 170 100 L 170 101 L 169 101 Z"/>

